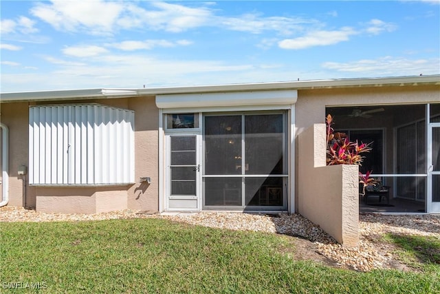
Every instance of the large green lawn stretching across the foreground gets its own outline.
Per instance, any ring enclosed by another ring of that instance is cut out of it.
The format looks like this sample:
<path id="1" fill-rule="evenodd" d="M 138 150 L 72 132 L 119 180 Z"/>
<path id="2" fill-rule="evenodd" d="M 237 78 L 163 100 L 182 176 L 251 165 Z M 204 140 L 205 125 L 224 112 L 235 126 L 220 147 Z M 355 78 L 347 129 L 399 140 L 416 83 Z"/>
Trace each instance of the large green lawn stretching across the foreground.
<path id="1" fill-rule="evenodd" d="M 158 219 L 2 223 L 0 292 L 440 293 L 439 271 L 333 269 L 294 260 L 294 242 Z"/>

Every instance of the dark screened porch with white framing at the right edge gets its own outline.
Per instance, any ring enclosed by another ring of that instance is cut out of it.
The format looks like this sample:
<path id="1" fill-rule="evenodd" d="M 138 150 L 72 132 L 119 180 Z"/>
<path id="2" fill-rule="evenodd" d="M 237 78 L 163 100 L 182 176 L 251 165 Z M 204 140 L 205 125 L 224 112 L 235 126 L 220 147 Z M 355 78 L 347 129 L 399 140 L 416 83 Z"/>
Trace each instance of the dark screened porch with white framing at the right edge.
<path id="1" fill-rule="evenodd" d="M 360 172 L 372 171 L 386 193 L 371 192 L 368 201 L 360 200 L 360 211 L 440 212 L 440 103 L 327 107 L 326 112 L 336 132 L 373 148 Z"/>

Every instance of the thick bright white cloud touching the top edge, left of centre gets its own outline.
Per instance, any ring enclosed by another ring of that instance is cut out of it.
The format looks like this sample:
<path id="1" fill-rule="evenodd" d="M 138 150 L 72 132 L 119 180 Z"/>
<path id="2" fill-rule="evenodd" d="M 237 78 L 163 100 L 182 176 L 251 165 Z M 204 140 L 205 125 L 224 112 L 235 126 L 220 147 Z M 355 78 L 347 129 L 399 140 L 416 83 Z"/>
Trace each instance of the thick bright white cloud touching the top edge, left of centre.
<path id="1" fill-rule="evenodd" d="M 128 1 L 52 1 L 39 3 L 31 13 L 50 23 L 56 30 L 83 31 L 89 34 L 113 34 L 122 29 L 150 28 L 181 32 L 205 24 L 210 15 L 206 8 L 188 8 L 173 3 L 153 1 L 145 10 Z"/>

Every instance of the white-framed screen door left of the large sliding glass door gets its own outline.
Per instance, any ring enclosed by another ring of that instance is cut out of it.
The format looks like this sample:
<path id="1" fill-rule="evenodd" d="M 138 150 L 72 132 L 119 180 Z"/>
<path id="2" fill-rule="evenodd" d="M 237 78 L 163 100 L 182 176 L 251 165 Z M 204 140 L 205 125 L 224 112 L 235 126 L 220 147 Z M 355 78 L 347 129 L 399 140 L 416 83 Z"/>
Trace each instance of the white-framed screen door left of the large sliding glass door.
<path id="1" fill-rule="evenodd" d="M 200 210 L 199 136 L 166 136 L 167 210 Z"/>

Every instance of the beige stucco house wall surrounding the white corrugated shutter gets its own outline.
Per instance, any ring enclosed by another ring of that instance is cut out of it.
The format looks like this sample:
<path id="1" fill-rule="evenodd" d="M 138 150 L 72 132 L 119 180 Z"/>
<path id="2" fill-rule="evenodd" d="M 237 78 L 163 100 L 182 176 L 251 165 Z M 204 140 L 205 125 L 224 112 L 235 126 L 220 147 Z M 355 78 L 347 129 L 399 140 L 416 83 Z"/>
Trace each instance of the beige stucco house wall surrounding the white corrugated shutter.
<path id="1" fill-rule="evenodd" d="M 8 205 L 31 207 L 45 212 L 97 213 L 119 209 L 158 210 L 158 109 L 154 96 L 117 99 L 62 101 L 65 103 L 100 103 L 135 111 L 135 183 L 122 187 L 34 187 L 18 176 L 19 166 L 29 166 L 29 106 L 56 104 L 1 103 L 1 123 L 9 128 Z M 149 176 L 151 185 L 140 183 Z"/>

